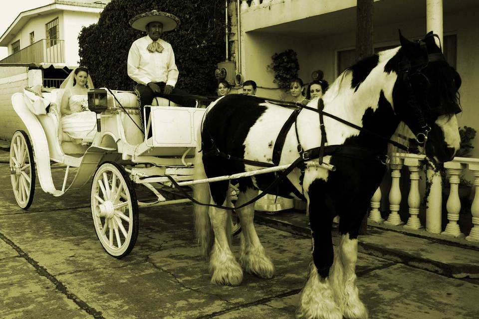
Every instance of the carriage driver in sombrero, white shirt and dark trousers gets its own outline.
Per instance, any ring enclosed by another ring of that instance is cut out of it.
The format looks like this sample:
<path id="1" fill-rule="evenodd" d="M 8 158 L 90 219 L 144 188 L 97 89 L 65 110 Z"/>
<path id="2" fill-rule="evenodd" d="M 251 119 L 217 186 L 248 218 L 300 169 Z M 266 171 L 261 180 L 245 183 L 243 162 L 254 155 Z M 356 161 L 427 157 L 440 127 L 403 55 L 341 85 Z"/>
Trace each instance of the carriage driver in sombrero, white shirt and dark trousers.
<path id="1" fill-rule="evenodd" d="M 134 16 L 129 23 L 134 29 L 148 33 L 133 42 L 128 52 L 128 76 L 137 83 L 135 91 L 140 98 L 141 114 L 155 96 L 188 95 L 175 88 L 179 73 L 175 54 L 171 44 L 160 39 L 163 32 L 175 29 L 180 19 L 171 13 L 153 10 Z M 183 106 L 195 105 L 195 100 L 182 96 L 170 96 L 169 99 Z M 149 114 L 147 108 L 146 119 Z"/>

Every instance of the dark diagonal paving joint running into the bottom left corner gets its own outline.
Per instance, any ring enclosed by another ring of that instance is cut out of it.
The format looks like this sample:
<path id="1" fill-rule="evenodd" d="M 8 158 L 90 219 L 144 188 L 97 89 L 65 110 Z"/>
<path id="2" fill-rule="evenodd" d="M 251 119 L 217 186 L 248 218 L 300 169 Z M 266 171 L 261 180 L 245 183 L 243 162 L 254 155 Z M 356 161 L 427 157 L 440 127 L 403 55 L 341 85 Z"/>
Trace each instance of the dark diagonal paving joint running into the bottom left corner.
<path id="1" fill-rule="evenodd" d="M 23 258 L 26 260 L 27 263 L 29 263 L 35 271 L 38 273 L 38 275 L 45 277 L 48 279 L 53 285 L 55 285 L 55 289 L 59 291 L 61 294 L 65 295 L 66 298 L 70 299 L 73 301 L 80 309 L 85 311 L 88 315 L 93 316 L 95 319 L 105 319 L 105 317 L 102 316 L 100 311 L 97 311 L 95 308 L 88 306 L 86 302 L 78 298 L 73 293 L 70 293 L 65 285 L 61 281 L 55 278 L 52 274 L 50 274 L 45 267 L 40 266 L 36 260 L 31 258 L 26 252 L 24 252 L 20 247 L 15 245 L 11 240 L 9 240 L 3 233 L 0 232 L 0 239 L 2 239 L 7 245 L 9 245 L 11 248 L 13 248 L 17 254 L 19 255 L 20 258 Z"/>

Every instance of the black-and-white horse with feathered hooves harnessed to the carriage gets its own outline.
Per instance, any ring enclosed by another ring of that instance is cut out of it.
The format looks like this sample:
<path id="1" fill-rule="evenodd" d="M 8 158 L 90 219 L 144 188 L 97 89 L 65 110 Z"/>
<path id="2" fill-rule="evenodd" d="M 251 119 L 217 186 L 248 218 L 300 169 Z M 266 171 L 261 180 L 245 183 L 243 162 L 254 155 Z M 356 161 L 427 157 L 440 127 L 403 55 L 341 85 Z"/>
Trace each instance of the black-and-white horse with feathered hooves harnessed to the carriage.
<path id="1" fill-rule="evenodd" d="M 208 107 L 197 132 L 195 179 L 297 163 L 272 187 L 280 173 L 238 179 L 239 261 L 230 249 L 231 212 L 221 208 L 228 202 L 229 181 L 195 186 L 195 200 L 209 204 L 196 204 L 194 215 L 198 242 L 210 256 L 212 283 L 240 285 L 242 269 L 260 278 L 274 275 L 249 203 L 266 189 L 307 201 L 312 261 L 296 317 L 368 317 L 356 287 L 358 229 L 386 172 L 391 137 L 404 123 L 436 163 L 452 160 L 460 144 L 461 78 L 446 62 L 437 35 L 429 32 L 418 41 L 401 32 L 399 37 L 400 46 L 358 61 L 307 106 L 292 110 L 260 97 L 227 95 Z M 335 216 L 340 238 L 333 247 Z"/>

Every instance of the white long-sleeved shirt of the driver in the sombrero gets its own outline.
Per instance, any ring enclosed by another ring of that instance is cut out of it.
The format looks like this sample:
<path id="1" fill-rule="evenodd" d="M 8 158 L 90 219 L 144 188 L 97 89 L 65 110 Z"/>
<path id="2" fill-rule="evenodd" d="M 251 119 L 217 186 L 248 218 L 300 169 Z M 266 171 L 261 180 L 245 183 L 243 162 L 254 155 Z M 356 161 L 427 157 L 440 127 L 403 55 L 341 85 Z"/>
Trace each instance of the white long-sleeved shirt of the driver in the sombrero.
<path id="1" fill-rule="evenodd" d="M 171 44 L 158 39 L 163 51 L 150 52 L 147 47 L 153 40 L 147 35 L 139 38 L 131 45 L 128 52 L 128 76 L 139 84 L 165 82 L 175 86 L 178 81 L 178 68 Z"/>

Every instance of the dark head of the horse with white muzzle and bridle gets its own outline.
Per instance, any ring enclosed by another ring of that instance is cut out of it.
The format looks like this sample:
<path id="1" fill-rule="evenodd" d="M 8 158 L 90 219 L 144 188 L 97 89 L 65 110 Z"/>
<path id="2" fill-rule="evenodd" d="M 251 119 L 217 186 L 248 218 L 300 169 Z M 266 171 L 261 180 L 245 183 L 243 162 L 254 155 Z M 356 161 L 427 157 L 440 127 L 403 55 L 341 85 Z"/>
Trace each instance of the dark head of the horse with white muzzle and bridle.
<path id="1" fill-rule="evenodd" d="M 396 114 L 425 147 L 426 155 L 444 162 L 452 160 L 459 149 L 456 114 L 461 112 L 461 77 L 446 62 L 435 37 L 429 32 L 412 42 L 400 33 L 393 99 Z"/>

